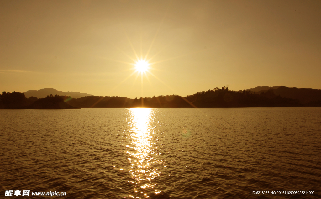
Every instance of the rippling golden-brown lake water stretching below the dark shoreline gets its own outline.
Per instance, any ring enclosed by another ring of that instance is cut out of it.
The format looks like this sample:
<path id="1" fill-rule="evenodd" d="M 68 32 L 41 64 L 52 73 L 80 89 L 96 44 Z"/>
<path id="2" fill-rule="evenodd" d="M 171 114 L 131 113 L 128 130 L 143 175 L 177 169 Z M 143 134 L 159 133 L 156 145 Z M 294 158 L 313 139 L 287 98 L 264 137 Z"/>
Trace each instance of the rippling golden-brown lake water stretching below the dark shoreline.
<path id="1" fill-rule="evenodd" d="M 320 130 L 319 107 L 0 110 L 1 197 L 17 189 L 66 192 L 57 198 L 319 190 Z"/>

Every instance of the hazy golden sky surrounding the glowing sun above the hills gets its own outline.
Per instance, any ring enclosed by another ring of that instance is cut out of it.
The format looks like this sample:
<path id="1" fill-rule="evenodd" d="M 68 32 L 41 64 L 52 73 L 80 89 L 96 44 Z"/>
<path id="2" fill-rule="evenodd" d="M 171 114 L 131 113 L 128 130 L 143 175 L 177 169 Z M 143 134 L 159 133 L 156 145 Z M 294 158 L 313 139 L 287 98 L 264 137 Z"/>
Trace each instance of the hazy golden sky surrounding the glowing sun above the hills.
<path id="1" fill-rule="evenodd" d="M 319 0 L 1 0 L 0 91 L 139 98 L 141 76 L 124 82 L 134 72 L 126 63 L 148 49 L 158 63 L 149 69 L 156 77 L 144 75 L 143 97 L 321 89 L 320 10 Z"/>

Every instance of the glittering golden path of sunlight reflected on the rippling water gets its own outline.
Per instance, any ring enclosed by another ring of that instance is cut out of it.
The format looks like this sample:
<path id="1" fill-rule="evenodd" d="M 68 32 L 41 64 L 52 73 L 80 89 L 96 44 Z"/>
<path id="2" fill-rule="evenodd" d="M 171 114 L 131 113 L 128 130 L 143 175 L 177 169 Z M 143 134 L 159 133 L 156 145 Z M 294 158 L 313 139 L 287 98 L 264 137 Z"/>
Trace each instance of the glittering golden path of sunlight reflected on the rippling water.
<path id="1" fill-rule="evenodd" d="M 132 174 L 132 181 L 130 182 L 137 184 L 142 189 L 153 188 L 156 183 L 153 183 L 152 180 L 160 175 L 160 172 L 154 166 L 161 164 L 163 161 L 157 160 L 156 157 L 160 153 L 157 152 L 158 147 L 153 146 L 156 144 L 157 137 L 152 128 L 152 109 L 131 108 L 131 112 L 133 125 L 127 135 L 129 145 L 126 145 L 126 147 L 131 148 L 130 151 L 126 151 L 130 154 L 130 158 L 128 158 L 131 164 L 129 171 Z M 140 192 L 145 197 L 149 197 L 147 193 L 139 189 L 135 188 L 134 192 Z M 153 192 L 159 193 L 157 190 L 153 190 Z"/>

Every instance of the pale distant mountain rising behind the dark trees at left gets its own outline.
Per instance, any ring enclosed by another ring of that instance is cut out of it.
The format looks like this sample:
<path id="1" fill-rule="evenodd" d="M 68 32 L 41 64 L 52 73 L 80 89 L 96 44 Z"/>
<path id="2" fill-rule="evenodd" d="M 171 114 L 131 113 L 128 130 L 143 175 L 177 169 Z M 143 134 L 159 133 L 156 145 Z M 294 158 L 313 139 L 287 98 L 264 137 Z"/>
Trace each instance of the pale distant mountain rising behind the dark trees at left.
<path id="1" fill-rule="evenodd" d="M 36 90 L 29 90 L 24 92 L 24 95 L 29 98 L 31 96 L 33 97 L 37 97 L 37 98 L 45 98 L 47 97 L 47 95 L 67 95 L 70 96 L 72 98 L 81 98 L 81 97 L 86 97 L 86 96 L 91 96 L 90 94 L 87 93 L 80 93 L 80 92 L 73 92 L 73 91 L 67 91 L 67 92 L 63 92 L 63 91 L 57 91 L 56 89 L 40 89 L 38 91 Z"/>

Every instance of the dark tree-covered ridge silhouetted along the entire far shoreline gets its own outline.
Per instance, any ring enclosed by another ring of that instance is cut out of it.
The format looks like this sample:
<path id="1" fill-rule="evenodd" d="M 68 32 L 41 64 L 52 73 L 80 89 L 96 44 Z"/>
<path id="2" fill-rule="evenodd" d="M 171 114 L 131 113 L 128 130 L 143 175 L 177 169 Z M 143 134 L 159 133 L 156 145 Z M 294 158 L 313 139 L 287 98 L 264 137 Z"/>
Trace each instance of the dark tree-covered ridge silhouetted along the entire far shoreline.
<path id="1" fill-rule="evenodd" d="M 281 97 L 281 95 L 294 96 Z M 296 97 L 296 98 L 295 98 Z M 227 87 L 215 88 L 193 95 L 159 95 L 151 98 L 48 95 L 46 98 L 26 98 L 23 93 L 0 94 L 0 108 L 241 108 L 241 107 L 300 107 L 321 106 L 321 90 L 297 89 L 281 86 L 278 89 L 253 92 L 250 90 L 230 91 Z"/>

